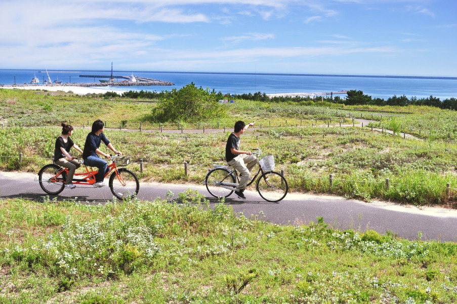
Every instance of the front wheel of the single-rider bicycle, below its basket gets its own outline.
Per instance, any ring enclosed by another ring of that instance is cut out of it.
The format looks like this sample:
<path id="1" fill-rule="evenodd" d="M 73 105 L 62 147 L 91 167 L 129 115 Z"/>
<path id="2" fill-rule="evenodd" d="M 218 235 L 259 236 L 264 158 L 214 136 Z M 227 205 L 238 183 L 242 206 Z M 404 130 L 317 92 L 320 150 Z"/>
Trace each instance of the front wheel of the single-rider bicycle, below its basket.
<path id="1" fill-rule="evenodd" d="M 265 172 L 257 180 L 257 192 L 267 202 L 279 202 L 288 190 L 284 176 L 275 171 Z"/>

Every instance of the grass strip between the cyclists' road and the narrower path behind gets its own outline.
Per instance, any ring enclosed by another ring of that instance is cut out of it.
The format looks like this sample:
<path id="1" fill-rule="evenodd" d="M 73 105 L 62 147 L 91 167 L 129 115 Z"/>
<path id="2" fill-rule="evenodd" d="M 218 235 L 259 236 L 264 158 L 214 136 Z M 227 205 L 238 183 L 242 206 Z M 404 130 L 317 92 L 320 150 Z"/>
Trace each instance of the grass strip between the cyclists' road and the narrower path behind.
<path id="1" fill-rule="evenodd" d="M 76 129 L 73 140 L 84 146 L 88 132 Z M 50 163 L 59 133 L 60 128 L 0 130 L 0 168 L 38 172 Z M 225 163 L 229 134 L 105 133 L 117 149 L 131 156 L 135 172 L 139 173 L 139 160 L 143 160 L 142 180 L 195 183 L 204 179 L 212 164 Z M 451 188 L 457 187 L 456 147 L 449 142 L 405 140 L 361 128 L 284 127 L 248 133 L 242 146 L 260 147 L 264 155 L 274 155 L 276 170 L 284 170 L 292 191 L 417 205 L 452 205 L 457 198 L 452 189 L 449 197 L 446 195 L 448 182 Z M 22 163 L 19 153 L 23 153 Z M 189 176 L 184 174 L 184 162 L 189 164 Z M 332 188 L 328 186 L 329 174 L 335 178 Z M 392 184 L 389 190 L 384 187 L 386 178 Z"/>

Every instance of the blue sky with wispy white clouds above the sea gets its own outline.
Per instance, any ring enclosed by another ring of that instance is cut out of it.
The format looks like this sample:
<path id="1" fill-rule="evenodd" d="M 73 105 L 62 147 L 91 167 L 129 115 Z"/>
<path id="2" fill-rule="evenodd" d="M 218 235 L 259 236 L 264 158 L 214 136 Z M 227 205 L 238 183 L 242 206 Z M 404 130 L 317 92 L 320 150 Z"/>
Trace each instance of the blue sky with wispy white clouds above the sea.
<path id="1" fill-rule="evenodd" d="M 0 68 L 457 76 L 455 0 L 19 0 L 0 25 Z"/>

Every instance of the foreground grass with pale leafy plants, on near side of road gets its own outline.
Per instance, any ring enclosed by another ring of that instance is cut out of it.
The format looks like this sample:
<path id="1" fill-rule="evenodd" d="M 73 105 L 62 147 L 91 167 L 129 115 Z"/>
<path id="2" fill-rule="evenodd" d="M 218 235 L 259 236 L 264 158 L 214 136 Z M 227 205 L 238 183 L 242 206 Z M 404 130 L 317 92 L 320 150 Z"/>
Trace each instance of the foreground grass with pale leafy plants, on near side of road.
<path id="1" fill-rule="evenodd" d="M 3 200 L 2 303 L 454 303 L 457 244 L 179 202 Z"/>

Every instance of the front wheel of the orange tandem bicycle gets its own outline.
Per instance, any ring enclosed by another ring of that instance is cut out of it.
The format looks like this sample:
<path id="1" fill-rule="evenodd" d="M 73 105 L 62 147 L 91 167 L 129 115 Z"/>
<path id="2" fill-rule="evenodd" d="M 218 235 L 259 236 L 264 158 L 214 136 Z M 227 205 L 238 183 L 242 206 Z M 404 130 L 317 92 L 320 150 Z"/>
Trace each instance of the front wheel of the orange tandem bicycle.
<path id="1" fill-rule="evenodd" d="M 140 189 L 140 182 L 138 181 L 135 173 L 120 168 L 111 174 L 109 178 L 109 188 L 113 195 L 119 200 L 129 199 L 138 194 Z"/>

